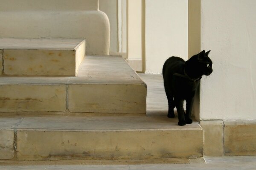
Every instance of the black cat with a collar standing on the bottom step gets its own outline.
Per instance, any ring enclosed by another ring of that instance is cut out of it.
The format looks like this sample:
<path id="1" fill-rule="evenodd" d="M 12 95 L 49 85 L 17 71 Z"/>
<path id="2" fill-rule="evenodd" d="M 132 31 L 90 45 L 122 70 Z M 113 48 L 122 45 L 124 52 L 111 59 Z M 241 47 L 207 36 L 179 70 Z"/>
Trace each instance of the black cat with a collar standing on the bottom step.
<path id="1" fill-rule="evenodd" d="M 163 65 L 163 82 L 168 99 L 168 117 L 174 117 L 173 109 L 177 108 L 178 125 L 192 123 L 191 111 L 195 92 L 202 75 L 212 73 L 210 51 L 201 51 L 186 62 L 180 57 L 170 57 Z M 186 100 L 186 114 L 183 101 Z"/>

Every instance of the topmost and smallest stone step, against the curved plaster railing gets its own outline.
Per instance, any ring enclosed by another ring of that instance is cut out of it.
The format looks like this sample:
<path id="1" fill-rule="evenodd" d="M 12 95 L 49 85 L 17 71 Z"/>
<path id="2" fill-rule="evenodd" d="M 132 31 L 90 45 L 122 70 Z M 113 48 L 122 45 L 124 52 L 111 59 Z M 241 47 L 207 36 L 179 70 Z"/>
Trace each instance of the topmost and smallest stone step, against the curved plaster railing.
<path id="1" fill-rule="evenodd" d="M 0 39 L 2 75 L 76 76 L 85 40 L 67 38 Z"/>

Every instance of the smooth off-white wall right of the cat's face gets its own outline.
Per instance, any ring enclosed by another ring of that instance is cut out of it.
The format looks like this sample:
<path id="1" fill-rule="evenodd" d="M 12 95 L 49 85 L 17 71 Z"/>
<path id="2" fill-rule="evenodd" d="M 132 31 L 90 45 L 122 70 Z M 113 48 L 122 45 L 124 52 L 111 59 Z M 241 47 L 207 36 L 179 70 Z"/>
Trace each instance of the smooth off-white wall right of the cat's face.
<path id="1" fill-rule="evenodd" d="M 201 1 L 201 48 L 213 61 L 201 80 L 201 119 L 256 119 L 255 7 L 255 0 Z"/>

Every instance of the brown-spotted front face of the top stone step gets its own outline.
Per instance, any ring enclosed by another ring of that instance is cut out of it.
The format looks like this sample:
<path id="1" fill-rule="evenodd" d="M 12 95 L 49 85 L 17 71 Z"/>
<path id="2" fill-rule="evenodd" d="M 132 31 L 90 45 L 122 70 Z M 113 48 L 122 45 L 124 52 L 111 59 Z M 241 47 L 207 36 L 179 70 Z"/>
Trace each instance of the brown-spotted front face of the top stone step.
<path id="1" fill-rule="evenodd" d="M 4 50 L 7 75 L 75 75 L 76 51 Z"/>

